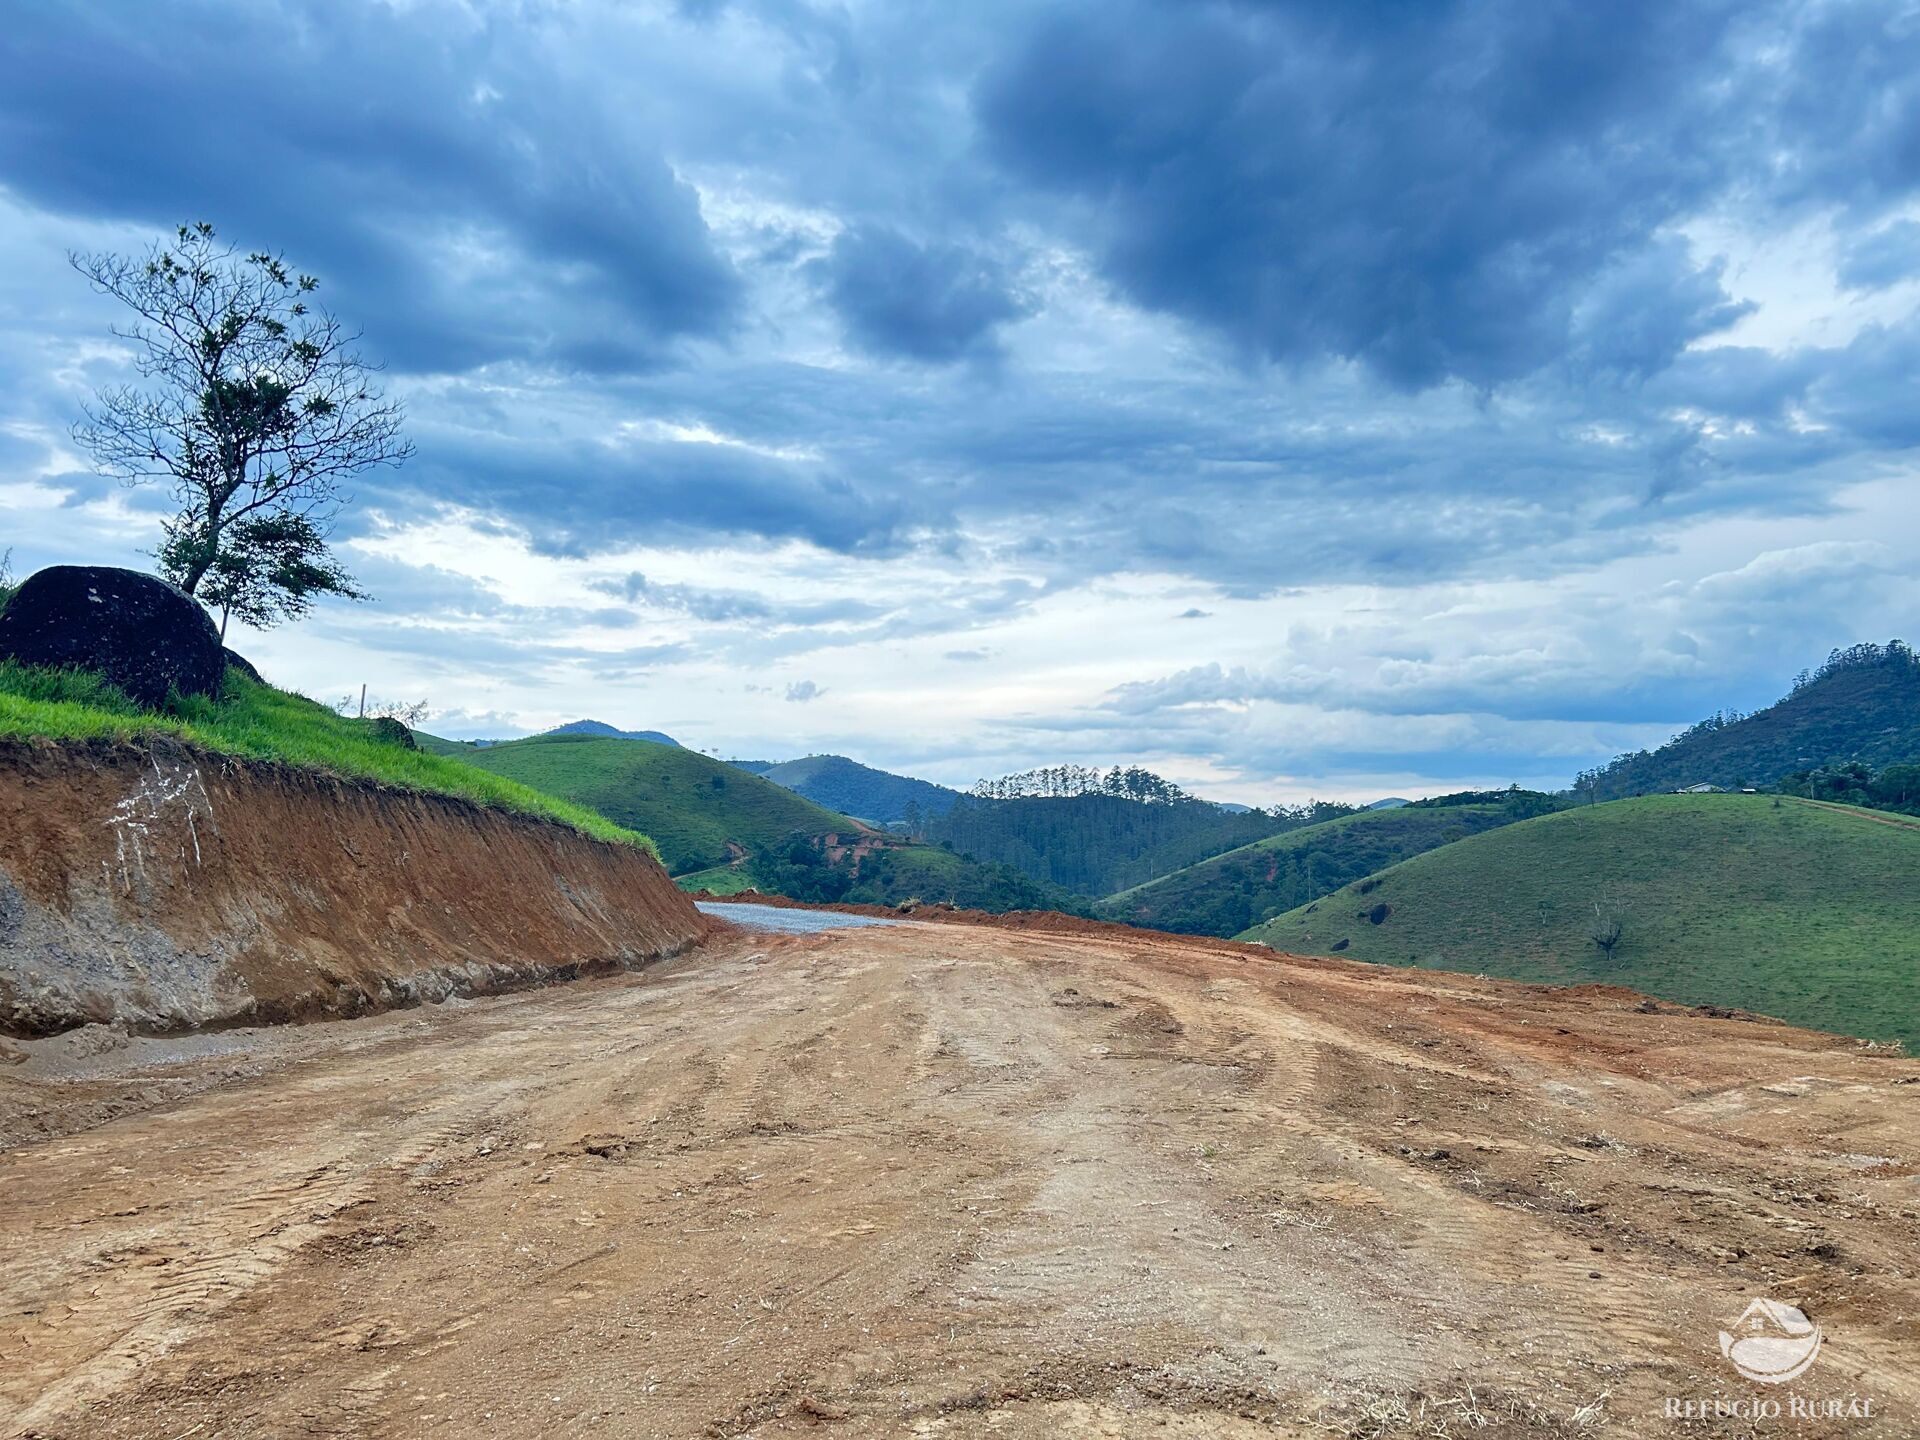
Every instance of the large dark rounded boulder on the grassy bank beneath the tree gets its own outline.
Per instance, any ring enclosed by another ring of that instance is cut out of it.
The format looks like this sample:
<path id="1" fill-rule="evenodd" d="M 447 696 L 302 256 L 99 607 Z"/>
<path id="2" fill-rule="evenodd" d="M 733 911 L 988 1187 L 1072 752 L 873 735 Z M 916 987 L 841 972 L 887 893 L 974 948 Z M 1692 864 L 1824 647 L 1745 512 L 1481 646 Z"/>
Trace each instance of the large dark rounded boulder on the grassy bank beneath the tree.
<path id="1" fill-rule="evenodd" d="M 0 660 L 94 670 L 138 705 L 217 695 L 221 632 L 192 595 L 138 570 L 52 564 L 0 611 Z"/>

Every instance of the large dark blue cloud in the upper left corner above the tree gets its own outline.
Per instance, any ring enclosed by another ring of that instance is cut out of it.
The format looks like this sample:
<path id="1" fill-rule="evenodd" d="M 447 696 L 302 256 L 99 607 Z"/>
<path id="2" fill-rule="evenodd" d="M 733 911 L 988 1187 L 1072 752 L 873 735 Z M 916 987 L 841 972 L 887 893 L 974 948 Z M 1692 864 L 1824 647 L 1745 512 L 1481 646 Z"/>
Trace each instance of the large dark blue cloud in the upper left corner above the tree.
<path id="1" fill-rule="evenodd" d="M 511 17 L 23 6 L 4 81 L 17 196 L 286 246 L 396 367 L 634 369 L 737 298 L 651 136 L 540 67 Z"/>

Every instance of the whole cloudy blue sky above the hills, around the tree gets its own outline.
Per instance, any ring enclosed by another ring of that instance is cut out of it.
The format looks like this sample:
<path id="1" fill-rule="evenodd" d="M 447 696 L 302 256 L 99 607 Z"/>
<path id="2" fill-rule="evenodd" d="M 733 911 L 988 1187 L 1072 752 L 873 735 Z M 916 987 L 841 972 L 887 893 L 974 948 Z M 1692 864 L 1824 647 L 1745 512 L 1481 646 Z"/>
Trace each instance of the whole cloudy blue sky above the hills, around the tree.
<path id="1" fill-rule="evenodd" d="M 1920 641 L 1920 8 L 17 0 L 0 549 L 150 566 L 67 252 L 182 221 L 417 453 L 276 684 L 966 785 L 1565 785 Z"/>

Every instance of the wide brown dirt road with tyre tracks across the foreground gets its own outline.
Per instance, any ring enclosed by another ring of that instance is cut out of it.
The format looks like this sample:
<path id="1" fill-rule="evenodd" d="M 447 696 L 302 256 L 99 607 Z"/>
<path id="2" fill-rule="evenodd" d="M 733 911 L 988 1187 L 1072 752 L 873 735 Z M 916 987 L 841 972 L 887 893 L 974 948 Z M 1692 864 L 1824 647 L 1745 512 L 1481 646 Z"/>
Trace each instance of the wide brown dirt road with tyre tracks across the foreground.
<path id="1" fill-rule="evenodd" d="M 35 1043 L 0 1432 L 1912 1434 L 1920 1064 L 1638 1004 L 902 925 Z"/>

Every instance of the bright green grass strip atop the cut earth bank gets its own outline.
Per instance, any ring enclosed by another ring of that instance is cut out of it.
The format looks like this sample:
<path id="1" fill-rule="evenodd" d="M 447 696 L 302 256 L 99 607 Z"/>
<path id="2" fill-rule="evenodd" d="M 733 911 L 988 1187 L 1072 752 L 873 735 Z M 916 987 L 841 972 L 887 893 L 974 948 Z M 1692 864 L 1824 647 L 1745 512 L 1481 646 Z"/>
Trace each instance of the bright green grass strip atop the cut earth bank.
<path id="1" fill-rule="evenodd" d="M 0 662 L 0 735 L 46 739 L 150 739 L 173 735 L 219 755 L 284 760 L 348 780 L 376 780 L 428 795 L 455 795 L 497 810 L 557 820 L 593 839 L 653 841 L 593 810 L 422 751 L 374 739 L 367 726 L 324 705 L 228 670 L 219 699 L 177 699 L 142 710 L 98 676 Z"/>

